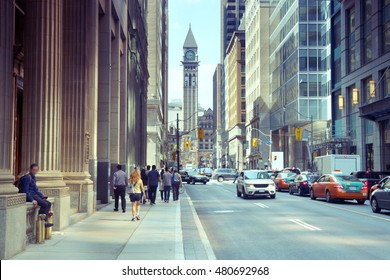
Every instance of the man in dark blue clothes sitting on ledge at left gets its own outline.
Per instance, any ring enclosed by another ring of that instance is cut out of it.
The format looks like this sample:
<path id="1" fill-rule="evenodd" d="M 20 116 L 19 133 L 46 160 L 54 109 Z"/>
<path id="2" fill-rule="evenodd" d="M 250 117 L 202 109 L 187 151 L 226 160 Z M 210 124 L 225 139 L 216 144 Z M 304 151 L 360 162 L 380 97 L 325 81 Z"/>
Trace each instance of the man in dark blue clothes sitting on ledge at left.
<path id="1" fill-rule="evenodd" d="M 20 184 L 22 185 L 22 192 L 26 194 L 27 202 L 32 202 L 34 207 L 37 207 L 38 205 L 41 207 L 39 209 L 39 214 L 45 215 L 45 227 L 52 227 L 53 224 L 47 222 L 51 208 L 51 202 L 47 200 L 47 196 L 44 196 L 37 187 L 35 175 L 37 175 L 38 170 L 38 164 L 31 164 L 28 176 L 23 176 Z"/>

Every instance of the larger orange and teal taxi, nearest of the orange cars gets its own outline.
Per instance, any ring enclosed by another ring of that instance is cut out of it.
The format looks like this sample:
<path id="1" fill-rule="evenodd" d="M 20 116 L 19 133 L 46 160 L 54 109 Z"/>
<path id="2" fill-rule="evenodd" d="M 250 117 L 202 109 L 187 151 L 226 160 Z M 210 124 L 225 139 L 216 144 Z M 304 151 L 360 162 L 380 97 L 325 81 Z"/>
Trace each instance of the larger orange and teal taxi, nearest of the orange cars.
<path id="1" fill-rule="evenodd" d="M 354 176 L 343 174 L 326 174 L 321 176 L 310 187 L 310 198 L 334 200 L 356 200 L 364 204 L 367 199 L 367 187 Z"/>

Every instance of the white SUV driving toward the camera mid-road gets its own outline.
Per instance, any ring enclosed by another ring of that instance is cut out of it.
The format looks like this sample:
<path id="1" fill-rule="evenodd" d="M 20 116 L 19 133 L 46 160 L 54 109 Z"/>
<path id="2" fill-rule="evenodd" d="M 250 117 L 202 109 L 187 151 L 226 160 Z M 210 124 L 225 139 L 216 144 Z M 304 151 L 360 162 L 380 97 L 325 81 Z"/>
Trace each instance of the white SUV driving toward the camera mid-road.
<path id="1" fill-rule="evenodd" d="M 249 196 L 276 197 L 275 183 L 267 171 L 246 170 L 240 173 L 236 183 L 237 196 L 248 198 Z"/>

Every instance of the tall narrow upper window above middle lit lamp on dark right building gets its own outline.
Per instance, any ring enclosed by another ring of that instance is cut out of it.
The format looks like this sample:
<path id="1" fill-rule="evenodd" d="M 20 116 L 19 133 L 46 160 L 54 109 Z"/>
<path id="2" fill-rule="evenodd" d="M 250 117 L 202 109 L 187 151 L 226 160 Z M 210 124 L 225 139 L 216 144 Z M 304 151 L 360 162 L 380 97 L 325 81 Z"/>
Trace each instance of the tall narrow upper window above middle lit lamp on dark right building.
<path id="1" fill-rule="evenodd" d="M 346 30 L 347 42 L 348 42 L 348 65 L 347 72 L 353 72 L 357 67 L 356 60 L 356 14 L 355 7 L 350 8 L 347 11 L 347 30 Z"/>

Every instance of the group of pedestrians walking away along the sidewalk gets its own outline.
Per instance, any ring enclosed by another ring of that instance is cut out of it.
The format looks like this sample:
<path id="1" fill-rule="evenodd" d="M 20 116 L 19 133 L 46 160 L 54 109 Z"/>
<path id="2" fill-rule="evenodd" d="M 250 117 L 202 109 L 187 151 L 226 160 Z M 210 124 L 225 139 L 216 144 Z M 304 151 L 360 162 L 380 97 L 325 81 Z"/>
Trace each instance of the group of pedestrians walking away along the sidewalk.
<path id="1" fill-rule="evenodd" d="M 171 190 L 173 200 L 179 200 L 179 189 L 182 185 L 180 174 L 177 170 L 163 168 L 157 171 L 156 165 L 142 168 L 134 168 L 130 177 L 122 170 L 122 166 L 117 166 L 117 171 L 112 178 L 114 189 L 115 208 L 119 211 L 119 198 L 121 199 L 122 212 L 126 212 L 126 192 L 130 196 L 132 221 L 140 220 L 141 203 L 150 205 L 156 204 L 157 189 L 160 191 L 161 200 L 169 203 Z"/>

